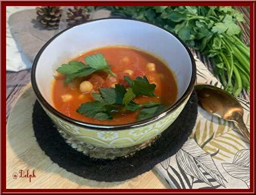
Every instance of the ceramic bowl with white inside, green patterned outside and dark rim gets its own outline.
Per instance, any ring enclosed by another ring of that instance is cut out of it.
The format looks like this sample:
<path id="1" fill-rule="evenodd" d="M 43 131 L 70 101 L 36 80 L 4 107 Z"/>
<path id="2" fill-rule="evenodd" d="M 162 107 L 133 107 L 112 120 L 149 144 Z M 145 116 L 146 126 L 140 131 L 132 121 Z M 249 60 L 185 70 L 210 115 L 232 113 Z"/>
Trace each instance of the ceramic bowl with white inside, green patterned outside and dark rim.
<path id="1" fill-rule="evenodd" d="M 177 80 L 176 102 L 157 116 L 123 125 L 85 123 L 55 110 L 51 86 L 56 68 L 88 50 L 119 45 L 136 47 L 163 59 Z M 120 148 L 154 138 L 175 121 L 193 91 L 196 64 L 186 45 L 163 28 L 135 19 L 103 18 L 68 28 L 52 37 L 33 62 L 31 80 L 38 101 L 59 128 L 95 146 Z"/>

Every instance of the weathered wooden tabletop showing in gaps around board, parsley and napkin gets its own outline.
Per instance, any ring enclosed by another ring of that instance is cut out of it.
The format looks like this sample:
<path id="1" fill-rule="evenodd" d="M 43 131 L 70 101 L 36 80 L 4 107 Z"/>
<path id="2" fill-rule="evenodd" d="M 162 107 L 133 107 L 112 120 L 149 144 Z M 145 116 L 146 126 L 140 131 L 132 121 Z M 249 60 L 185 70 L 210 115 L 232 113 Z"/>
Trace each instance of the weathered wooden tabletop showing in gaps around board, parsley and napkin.
<path id="1" fill-rule="evenodd" d="M 243 39 L 244 41 L 249 44 L 250 40 L 250 30 L 249 30 L 249 16 L 250 11 L 249 7 L 236 7 L 239 11 L 241 11 L 245 18 L 245 23 L 240 24 L 240 27 L 243 30 Z M 212 64 L 209 59 L 205 56 L 202 56 L 200 52 L 191 49 L 193 54 L 197 55 L 198 58 L 204 62 L 205 66 L 212 72 Z M 11 111 L 14 102 L 17 99 L 17 95 L 19 94 L 20 90 L 30 81 L 30 69 L 24 70 L 20 72 L 10 72 L 7 71 L 7 89 L 6 89 L 6 117 L 8 118 L 9 113 Z M 249 95 L 245 92 L 241 93 L 240 95 L 243 98 L 249 99 Z"/>

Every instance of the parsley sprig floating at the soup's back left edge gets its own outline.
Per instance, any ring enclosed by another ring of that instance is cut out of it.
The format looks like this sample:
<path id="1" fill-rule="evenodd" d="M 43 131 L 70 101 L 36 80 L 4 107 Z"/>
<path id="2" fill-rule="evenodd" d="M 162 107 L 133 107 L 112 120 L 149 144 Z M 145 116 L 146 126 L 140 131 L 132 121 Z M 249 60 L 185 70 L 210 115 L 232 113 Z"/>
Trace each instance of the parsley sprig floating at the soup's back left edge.
<path id="1" fill-rule="evenodd" d="M 56 71 L 65 74 L 66 84 L 77 77 L 86 77 L 97 71 L 106 71 L 112 76 L 116 76 L 116 74 L 110 70 L 105 57 L 101 53 L 87 56 L 84 60 L 87 62 L 87 66 L 81 61 L 70 61 L 68 64 L 62 64 Z"/>

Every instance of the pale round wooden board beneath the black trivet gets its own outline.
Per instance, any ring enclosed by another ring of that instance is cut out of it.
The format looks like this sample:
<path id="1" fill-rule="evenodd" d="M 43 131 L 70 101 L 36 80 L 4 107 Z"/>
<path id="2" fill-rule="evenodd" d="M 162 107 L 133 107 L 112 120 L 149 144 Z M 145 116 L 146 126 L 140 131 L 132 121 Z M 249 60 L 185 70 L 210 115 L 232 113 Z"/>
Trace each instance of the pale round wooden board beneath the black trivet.
<path id="1" fill-rule="evenodd" d="M 96 182 L 66 171 L 45 155 L 34 137 L 32 109 L 36 100 L 31 83 L 20 93 L 7 121 L 7 189 L 10 188 L 168 188 L 156 171 L 124 182 Z M 36 178 L 13 179 L 20 169 L 35 170 Z M 97 174 L 97 173 L 95 173 Z"/>

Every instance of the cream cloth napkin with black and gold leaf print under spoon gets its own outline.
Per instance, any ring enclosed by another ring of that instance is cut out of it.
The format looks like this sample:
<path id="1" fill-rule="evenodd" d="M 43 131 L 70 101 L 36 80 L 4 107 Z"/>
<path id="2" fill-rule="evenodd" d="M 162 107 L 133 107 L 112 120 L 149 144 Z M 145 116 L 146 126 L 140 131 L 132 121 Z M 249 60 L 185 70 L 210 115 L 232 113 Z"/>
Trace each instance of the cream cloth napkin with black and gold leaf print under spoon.
<path id="1" fill-rule="evenodd" d="M 204 64 L 194 58 L 197 83 L 223 88 Z M 237 99 L 250 129 L 250 103 Z M 250 188 L 250 146 L 233 122 L 219 119 L 198 107 L 197 121 L 187 142 L 176 155 L 154 169 L 170 188 Z"/>

